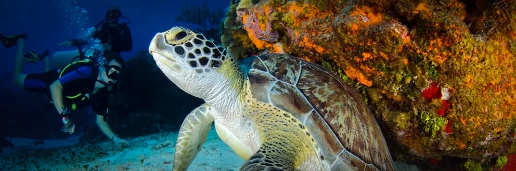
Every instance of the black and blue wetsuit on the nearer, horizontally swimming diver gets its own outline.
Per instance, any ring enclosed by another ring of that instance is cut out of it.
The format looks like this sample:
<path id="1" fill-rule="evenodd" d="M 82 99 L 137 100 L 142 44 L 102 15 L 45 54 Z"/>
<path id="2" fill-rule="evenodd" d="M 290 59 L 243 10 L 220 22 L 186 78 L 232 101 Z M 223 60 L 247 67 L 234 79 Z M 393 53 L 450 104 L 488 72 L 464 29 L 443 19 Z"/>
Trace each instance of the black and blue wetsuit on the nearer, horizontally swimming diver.
<path id="1" fill-rule="evenodd" d="M 77 64 L 78 65 L 78 64 Z M 80 72 L 80 73 L 79 73 Z M 79 109 L 91 104 L 97 115 L 107 117 L 108 96 L 106 88 L 91 94 L 99 68 L 93 62 L 80 66 L 69 66 L 59 77 L 57 69 L 43 73 L 27 74 L 23 88 L 30 92 L 44 93 L 52 101 L 50 85 L 59 80 L 63 87 L 63 103 L 69 109 Z"/>

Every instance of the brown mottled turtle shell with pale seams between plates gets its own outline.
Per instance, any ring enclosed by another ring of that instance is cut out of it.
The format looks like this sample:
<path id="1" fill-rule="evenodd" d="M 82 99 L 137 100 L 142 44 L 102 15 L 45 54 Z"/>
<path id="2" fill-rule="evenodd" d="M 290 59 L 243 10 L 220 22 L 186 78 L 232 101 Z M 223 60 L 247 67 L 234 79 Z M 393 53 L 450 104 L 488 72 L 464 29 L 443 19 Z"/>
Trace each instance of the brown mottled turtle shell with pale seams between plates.
<path id="1" fill-rule="evenodd" d="M 332 170 L 395 170 L 376 119 L 349 84 L 288 54 L 250 56 L 240 66 L 253 96 L 304 123 Z"/>

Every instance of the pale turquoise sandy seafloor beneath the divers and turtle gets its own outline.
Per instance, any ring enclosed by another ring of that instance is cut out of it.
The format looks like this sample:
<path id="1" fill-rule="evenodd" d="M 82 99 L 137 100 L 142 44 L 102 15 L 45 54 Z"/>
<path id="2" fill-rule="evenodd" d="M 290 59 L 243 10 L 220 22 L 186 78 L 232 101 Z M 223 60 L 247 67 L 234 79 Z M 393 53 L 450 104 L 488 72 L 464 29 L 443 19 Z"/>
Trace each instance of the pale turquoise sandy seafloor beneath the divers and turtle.
<path id="1" fill-rule="evenodd" d="M 80 145 L 77 144 L 78 135 L 42 142 L 11 138 L 17 147 L 4 148 L 0 155 L 0 170 L 172 170 L 177 133 L 126 139 L 131 144 L 128 147 L 111 144 L 107 138 L 98 143 Z M 212 127 L 188 170 L 239 170 L 243 163 L 244 160 L 219 139 Z M 396 167 L 398 170 L 418 170 L 415 166 L 398 162 Z"/>

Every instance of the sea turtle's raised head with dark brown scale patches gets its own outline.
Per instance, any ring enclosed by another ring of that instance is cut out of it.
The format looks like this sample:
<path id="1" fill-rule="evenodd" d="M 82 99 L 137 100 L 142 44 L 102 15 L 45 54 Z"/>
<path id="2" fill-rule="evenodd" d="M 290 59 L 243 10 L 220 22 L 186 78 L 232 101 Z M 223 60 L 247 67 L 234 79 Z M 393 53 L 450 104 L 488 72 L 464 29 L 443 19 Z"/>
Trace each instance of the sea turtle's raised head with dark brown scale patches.
<path id="1" fill-rule="evenodd" d="M 223 86 L 221 80 L 224 75 L 220 70 L 236 62 L 223 46 L 184 27 L 156 33 L 149 45 L 149 53 L 168 79 L 202 99 L 215 95 L 211 92 Z"/>

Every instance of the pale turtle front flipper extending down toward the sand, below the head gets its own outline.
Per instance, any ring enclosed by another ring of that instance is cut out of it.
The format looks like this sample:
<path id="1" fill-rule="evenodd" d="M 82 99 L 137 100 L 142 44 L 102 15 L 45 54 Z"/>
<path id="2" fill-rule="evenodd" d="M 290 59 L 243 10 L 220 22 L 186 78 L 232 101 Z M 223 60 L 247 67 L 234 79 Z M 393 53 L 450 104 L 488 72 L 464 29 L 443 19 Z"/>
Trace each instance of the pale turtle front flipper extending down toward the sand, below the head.
<path id="1" fill-rule="evenodd" d="M 206 141 L 213 120 L 207 104 L 202 104 L 188 114 L 179 129 L 178 141 L 175 144 L 173 170 L 188 168 Z"/>

